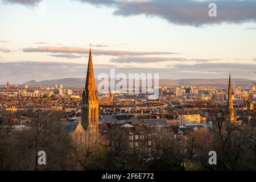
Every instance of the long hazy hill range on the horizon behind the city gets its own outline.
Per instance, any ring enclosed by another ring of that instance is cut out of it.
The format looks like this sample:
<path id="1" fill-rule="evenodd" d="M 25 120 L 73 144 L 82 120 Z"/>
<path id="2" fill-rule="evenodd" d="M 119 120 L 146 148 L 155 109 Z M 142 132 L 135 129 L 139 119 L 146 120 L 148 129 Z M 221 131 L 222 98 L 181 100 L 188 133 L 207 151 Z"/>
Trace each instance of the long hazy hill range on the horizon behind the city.
<path id="1" fill-rule="evenodd" d="M 95 79 L 96 85 L 100 82 Z M 245 78 L 234 78 L 232 79 L 236 86 L 247 86 L 251 81 Z M 55 80 L 43 80 L 43 81 L 27 81 L 23 85 L 29 86 L 55 86 L 63 84 L 64 87 L 77 87 L 82 88 L 85 85 L 85 78 L 61 78 Z M 182 85 L 191 85 L 191 86 L 215 86 L 218 88 L 226 88 L 228 86 L 228 79 L 159 79 L 160 86 L 182 86 Z"/>

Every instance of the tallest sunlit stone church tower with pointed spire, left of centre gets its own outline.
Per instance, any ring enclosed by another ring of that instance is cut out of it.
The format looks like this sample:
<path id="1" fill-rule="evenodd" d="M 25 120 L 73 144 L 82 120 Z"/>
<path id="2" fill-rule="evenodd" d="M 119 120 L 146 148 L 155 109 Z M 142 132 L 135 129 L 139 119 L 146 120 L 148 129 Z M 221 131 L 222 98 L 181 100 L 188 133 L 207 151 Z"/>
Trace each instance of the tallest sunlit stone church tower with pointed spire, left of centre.
<path id="1" fill-rule="evenodd" d="M 90 134 L 98 131 L 98 93 L 94 82 L 91 50 L 89 52 L 85 88 L 82 93 L 82 127 Z"/>

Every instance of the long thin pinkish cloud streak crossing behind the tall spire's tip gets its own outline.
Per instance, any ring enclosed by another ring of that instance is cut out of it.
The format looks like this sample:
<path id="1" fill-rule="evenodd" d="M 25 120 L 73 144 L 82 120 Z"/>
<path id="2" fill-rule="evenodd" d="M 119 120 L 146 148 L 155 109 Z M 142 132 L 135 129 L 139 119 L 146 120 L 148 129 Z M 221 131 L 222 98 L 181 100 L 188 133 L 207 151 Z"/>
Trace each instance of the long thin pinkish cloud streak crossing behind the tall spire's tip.
<path id="1" fill-rule="evenodd" d="M 36 47 L 36 48 L 24 48 L 23 52 L 51 52 L 51 53 L 88 53 L 88 48 L 81 47 Z M 103 49 L 92 49 L 94 55 L 110 55 L 110 56 L 143 56 L 143 55 L 167 55 L 177 54 L 174 52 L 138 52 L 138 51 L 117 51 L 117 50 L 103 50 Z"/>

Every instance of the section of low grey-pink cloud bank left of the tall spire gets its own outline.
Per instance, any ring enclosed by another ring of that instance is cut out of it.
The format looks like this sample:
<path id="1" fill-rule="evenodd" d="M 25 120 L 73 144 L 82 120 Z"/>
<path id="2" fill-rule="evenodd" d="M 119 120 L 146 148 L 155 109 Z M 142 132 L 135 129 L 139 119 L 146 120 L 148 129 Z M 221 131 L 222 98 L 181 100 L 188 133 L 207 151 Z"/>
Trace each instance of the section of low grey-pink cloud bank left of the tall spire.
<path id="1" fill-rule="evenodd" d="M 66 67 L 65 67 L 66 66 Z M 82 76 L 86 70 L 85 64 L 59 63 L 47 61 L 0 61 L 1 80 L 20 83 L 28 80 L 43 80 Z M 85 75 L 85 73 L 84 73 Z"/>

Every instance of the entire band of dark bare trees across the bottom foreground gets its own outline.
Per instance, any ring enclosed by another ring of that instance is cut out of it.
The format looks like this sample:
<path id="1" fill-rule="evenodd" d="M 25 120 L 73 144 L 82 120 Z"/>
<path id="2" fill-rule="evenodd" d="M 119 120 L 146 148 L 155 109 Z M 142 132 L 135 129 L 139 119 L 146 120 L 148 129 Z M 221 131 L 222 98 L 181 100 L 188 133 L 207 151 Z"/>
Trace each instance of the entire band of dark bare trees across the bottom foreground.
<path id="1" fill-rule="evenodd" d="M 182 140 L 156 133 L 154 150 L 148 156 L 140 148 L 130 148 L 121 130 L 114 133 L 112 147 L 100 137 L 84 148 L 77 148 L 63 135 L 63 115 L 35 111 L 26 130 L 12 130 L 22 113 L 0 117 L 1 170 L 256 170 L 256 119 L 227 121 L 228 113 L 213 112 L 212 128 L 197 129 Z M 46 165 L 39 165 L 38 152 L 45 151 Z M 216 151 L 217 164 L 210 165 L 209 151 Z"/>

